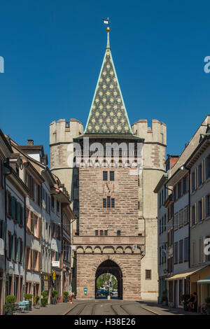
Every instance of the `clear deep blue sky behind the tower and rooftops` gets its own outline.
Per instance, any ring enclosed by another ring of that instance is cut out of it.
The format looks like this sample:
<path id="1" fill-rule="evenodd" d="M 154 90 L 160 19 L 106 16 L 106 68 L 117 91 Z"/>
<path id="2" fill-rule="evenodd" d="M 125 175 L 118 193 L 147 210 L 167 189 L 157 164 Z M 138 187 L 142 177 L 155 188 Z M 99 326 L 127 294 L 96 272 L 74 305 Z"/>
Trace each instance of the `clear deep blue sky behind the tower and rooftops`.
<path id="1" fill-rule="evenodd" d="M 167 124 L 167 153 L 179 154 L 210 113 L 208 1 L 1 1 L 0 127 L 49 154 L 49 124 L 86 124 L 106 48 L 130 123 Z"/>

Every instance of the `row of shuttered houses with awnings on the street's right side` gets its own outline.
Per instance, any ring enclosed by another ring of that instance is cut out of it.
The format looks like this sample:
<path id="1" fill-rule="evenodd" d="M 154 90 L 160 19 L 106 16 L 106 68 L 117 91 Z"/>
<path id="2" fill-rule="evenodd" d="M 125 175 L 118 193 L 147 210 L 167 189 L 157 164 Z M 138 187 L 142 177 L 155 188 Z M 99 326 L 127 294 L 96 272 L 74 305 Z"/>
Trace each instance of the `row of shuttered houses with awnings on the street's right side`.
<path id="1" fill-rule="evenodd" d="M 182 296 L 197 293 L 197 311 L 209 296 L 209 255 L 205 254 L 209 237 L 209 124 L 207 116 L 174 164 L 167 166 L 165 183 L 172 193 L 164 204 L 167 225 L 172 228 L 167 239 L 168 302 L 172 307 L 183 307 Z"/>

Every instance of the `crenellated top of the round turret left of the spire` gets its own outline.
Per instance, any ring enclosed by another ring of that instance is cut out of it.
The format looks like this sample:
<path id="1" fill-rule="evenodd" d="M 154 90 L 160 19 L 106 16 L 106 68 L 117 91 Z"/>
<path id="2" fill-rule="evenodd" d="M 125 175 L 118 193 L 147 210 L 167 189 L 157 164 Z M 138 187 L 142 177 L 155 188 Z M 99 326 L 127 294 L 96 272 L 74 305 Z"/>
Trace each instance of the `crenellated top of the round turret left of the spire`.
<path id="1" fill-rule="evenodd" d="M 76 119 L 59 119 L 50 123 L 50 146 L 57 143 L 71 143 L 73 138 L 83 134 L 83 123 Z"/>

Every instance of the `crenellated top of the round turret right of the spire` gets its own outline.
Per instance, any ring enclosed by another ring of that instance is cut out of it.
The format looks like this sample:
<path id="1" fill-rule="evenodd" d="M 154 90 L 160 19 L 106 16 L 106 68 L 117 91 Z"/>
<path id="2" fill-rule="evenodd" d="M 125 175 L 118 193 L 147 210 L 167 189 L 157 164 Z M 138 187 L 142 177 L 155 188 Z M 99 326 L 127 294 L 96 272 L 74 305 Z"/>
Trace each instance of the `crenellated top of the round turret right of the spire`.
<path id="1" fill-rule="evenodd" d="M 141 119 L 132 125 L 132 132 L 145 139 L 145 142 L 167 144 L 167 126 L 156 119 L 152 120 L 151 127 L 146 119 Z"/>

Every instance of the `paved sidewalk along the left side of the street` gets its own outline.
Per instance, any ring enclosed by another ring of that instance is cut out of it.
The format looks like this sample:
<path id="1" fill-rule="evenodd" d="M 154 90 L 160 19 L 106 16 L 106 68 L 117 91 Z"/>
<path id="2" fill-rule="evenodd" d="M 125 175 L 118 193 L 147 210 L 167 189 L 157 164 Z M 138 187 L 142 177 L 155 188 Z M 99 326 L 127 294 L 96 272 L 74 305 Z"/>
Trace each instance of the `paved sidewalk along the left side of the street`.
<path id="1" fill-rule="evenodd" d="M 69 302 L 59 302 L 55 305 L 49 304 L 46 307 L 40 307 L 39 309 L 32 309 L 31 311 L 27 311 L 27 313 L 18 312 L 17 315 L 65 315 L 68 311 L 71 311 L 73 307 L 76 306 L 78 302 L 73 302 L 73 304 L 69 304 Z"/>

